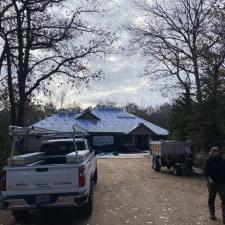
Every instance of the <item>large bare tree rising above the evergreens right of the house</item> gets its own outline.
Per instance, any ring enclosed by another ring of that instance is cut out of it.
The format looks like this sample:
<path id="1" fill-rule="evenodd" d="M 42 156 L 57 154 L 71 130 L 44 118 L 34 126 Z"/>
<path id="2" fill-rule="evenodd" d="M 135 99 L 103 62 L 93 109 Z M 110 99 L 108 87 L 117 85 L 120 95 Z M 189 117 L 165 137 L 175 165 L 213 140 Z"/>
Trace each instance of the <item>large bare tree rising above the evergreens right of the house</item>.
<path id="1" fill-rule="evenodd" d="M 212 49 L 218 36 L 212 35 L 212 15 L 218 0 L 140 0 L 138 22 L 129 27 L 132 43 L 154 67 L 155 79 L 175 76 L 185 92 L 195 91 L 203 100 L 203 49 Z M 211 34 L 209 36 L 209 33 Z M 204 51 L 205 51 L 204 50 Z"/>

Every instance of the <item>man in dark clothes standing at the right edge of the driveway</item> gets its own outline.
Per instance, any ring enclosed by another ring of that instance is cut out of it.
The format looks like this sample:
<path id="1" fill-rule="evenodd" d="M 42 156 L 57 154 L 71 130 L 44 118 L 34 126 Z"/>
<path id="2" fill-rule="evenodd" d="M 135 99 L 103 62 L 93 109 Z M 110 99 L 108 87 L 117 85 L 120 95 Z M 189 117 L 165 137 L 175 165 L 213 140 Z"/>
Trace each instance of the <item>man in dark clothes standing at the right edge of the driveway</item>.
<path id="1" fill-rule="evenodd" d="M 218 147 L 211 148 L 210 157 L 205 162 L 204 174 L 208 180 L 210 219 L 216 220 L 215 198 L 218 193 L 222 201 L 223 224 L 225 224 L 225 159 L 222 158 Z"/>

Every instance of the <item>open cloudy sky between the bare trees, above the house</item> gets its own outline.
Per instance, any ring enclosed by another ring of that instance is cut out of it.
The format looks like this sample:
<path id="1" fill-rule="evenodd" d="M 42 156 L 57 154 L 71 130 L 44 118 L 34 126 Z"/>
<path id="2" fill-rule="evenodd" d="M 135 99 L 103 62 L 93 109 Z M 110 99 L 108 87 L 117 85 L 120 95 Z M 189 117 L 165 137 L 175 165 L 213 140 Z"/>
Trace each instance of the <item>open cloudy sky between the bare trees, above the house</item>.
<path id="1" fill-rule="evenodd" d="M 74 0 L 69 0 L 71 3 Z M 62 107 L 71 104 L 71 100 L 83 107 L 95 106 L 100 101 L 113 101 L 118 104 L 133 102 L 140 106 L 157 107 L 170 101 L 157 90 L 156 83 L 146 77 L 140 77 L 146 62 L 138 56 L 128 56 L 129 34 L 121 29 L 124 24 L 138 20 L 132 0 L 105 0 L 107 9 L 103 23 L 118 35 L 118 53 L 99 59 L 94 62 L 102 69 L 105 78 L 100 81 L 91 81 L 88 88 L 82 88 L 79 94 L 65 87 L 54 89 L 50 101 L 60 105 L 60 96 L 65 95 Z M 57 91 L 55 91 L 57 90 Z"/>

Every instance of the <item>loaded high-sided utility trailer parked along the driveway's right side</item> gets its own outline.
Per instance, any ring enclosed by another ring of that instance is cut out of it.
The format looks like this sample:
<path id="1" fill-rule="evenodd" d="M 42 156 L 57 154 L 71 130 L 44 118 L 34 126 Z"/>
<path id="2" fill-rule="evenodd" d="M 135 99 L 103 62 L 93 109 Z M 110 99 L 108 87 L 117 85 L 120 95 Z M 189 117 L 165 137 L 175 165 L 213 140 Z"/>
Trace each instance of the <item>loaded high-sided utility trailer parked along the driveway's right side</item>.
<path id="1" fill-rule="evenodd" d="M 172 169 L 176 176 L 192 173 L 192 154 L 190 142 L 185 141 L 151 141 L 150 155 L 152 168 L 159 172 L 162 167 Z"/>

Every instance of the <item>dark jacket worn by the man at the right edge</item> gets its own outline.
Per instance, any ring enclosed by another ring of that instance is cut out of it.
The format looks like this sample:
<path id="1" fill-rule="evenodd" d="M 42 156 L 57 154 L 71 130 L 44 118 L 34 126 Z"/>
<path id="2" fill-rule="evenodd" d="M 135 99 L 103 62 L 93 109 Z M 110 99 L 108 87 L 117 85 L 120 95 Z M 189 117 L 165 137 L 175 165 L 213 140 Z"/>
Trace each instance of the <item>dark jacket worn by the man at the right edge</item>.
<path id="1" fill-rule="evenodd" d="M 215 184 L 225 185 L 225 159 L 209 157 L 204 165 L 205 176 L 210 176 Z"/>

